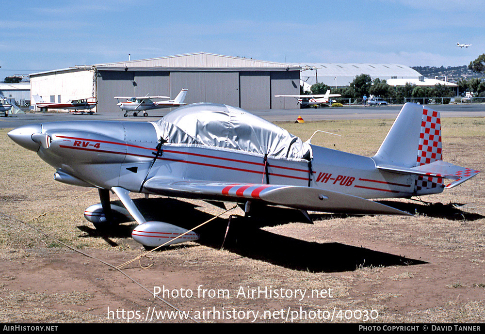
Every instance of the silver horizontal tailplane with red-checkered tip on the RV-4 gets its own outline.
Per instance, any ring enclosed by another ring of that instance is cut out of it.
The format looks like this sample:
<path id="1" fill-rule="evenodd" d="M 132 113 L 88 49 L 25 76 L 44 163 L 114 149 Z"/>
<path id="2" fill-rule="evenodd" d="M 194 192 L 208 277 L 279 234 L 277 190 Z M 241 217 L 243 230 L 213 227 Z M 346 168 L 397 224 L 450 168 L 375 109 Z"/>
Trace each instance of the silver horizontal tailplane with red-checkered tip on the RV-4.
<path id="1" fill-rule="evenodd" d="M 412 174 L 420 176 L 447 178 L 453 180 L 453 182 L 446 184 L 445 188 L 453 188 L 469 178 L 477 175 L 480 171 L 475 171 L 469 168 L 453 165 L 449 162 L 442 160 L 436 160 L 432 163 L 421 165 L 418 167 L 406 168 L 401 166 L 392 165 L 378 165 L 377 169 L 397 174 Z"/>

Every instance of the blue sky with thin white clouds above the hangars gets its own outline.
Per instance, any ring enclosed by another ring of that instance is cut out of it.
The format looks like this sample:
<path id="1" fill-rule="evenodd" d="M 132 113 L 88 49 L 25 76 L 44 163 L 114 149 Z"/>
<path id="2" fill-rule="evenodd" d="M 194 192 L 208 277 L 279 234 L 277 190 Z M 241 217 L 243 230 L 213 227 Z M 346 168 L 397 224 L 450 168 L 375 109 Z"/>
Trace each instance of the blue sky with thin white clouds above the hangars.
<path id="1" fill-rule="evenodd" d="M 408 66 L 465 65 L 485 53 L 482 0 L 4 0 L 0 27 L 0 80 L 129 53 Z"/>

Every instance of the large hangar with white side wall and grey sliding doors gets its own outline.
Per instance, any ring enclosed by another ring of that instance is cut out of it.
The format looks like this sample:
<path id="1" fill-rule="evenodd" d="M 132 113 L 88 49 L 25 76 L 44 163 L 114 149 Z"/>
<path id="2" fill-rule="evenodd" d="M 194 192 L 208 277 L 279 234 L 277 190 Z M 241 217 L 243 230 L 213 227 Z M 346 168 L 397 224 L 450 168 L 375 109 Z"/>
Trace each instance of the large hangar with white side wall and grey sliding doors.
<path id="1" fill-rule="evenodd" d="M 291 109 L 274 95 L 300 94 L 300 67 L 210 53 L 76 66 L 34 73 L 31 95 L 46 102 L 94 96 L 97 111 L 119 112 L 114 96 L 166 95 L 187 88 L 185 103 L 223 103 L 248 110 Z"/>

